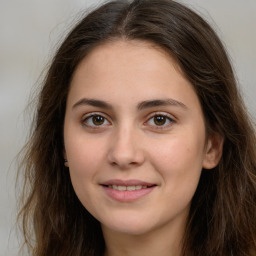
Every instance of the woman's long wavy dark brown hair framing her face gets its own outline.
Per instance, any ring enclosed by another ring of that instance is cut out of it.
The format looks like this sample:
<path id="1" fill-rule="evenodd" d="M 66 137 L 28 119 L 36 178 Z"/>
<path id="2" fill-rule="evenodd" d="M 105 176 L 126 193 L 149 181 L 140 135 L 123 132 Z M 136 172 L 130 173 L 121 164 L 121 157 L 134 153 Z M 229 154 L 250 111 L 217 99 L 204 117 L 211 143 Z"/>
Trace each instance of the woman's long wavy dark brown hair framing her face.
<path id="1" fill-rule="evenodd" d="M 183 255 L 253 255 L 255 131 L 215 32 L 196 13 L 171 0 L 106 3 L 82 19 L 57 51 L 20 167 L 25 177 L 20 218 L 31 255 L 100 256 L 104 251 L 100 223 L 76 197 L 64 166 L 63 123 L 70 81 L 80 61 L 98 45 L 120 39 L 149 41 L 168 52 L 198 95 L 208 134 L 225 138 L 219 165 L 202 170 Z"/>

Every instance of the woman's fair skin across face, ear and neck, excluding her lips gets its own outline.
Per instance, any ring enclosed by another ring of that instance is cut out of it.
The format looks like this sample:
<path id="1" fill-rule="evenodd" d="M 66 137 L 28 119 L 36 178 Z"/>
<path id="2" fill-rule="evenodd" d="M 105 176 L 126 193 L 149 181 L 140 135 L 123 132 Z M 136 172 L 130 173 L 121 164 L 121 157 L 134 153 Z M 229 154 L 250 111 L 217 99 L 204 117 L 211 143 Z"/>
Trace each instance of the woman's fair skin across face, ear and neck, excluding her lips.
<path id="1" fill-rule="evenodd" d="M 206 138 L 198 97 L 167 53 L 124 40 L 90 52 L 71 82 L 64 142 L 74 190 L 101 222 L 105 255 L 180 255 L 202 168 L 217 165 L 222 139 Z M 155 186 L 120 202 L 102 186 L 112 179 Z"/>

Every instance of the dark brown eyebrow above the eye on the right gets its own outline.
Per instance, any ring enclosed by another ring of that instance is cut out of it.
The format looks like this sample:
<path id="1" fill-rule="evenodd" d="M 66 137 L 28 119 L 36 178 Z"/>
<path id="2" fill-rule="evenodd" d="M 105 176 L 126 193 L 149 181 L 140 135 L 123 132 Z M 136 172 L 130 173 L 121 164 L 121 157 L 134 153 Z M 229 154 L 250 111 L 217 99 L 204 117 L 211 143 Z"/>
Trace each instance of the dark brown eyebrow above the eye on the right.
<path id="1" fill-rule="evenodd" d="M 177 100 L 174 99 L 155 99 L 155 100 L 146 100 L 138 104 L 138 110 L 143 110 L 146 108 L 159 107 L 159 106 L 177 106 L 183 109 L 188 109 L 188 107 Z"/>

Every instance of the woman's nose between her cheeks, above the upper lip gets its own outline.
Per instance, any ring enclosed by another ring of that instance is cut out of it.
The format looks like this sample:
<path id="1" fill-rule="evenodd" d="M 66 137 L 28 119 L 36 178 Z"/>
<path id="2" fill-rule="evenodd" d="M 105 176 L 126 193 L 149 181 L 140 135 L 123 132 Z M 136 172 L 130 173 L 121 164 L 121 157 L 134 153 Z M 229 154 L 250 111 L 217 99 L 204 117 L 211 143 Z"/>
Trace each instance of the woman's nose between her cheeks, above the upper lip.
<path id="1" fill-rule="evenodd" d="M 108 161 L 120 169 L 140 166 L 145 161 L 141 139 L 135 128 L 120 128 L 112 137 Z"/>

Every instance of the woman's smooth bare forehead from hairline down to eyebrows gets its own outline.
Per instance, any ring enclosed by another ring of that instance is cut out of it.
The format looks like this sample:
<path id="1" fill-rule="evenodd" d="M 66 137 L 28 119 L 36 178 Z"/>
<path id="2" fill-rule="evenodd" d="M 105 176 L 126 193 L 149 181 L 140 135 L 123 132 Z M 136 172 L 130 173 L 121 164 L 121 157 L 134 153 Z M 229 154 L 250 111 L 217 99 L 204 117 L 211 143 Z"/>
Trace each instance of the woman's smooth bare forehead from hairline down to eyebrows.
<path id="1" fill-rule="evenodd" d="M 125 93 L 124 93 L 125 92 Z M 71 95 L 138 101 L 181 96 L 197 98 L 192 85 L 166 51 L 144 41 L 107 42 L 93 49 L 77 67 Z M 179 99 L 180 98 L 180 99 Z M 184 100 L 184 99 L 183 99 Z"/>

